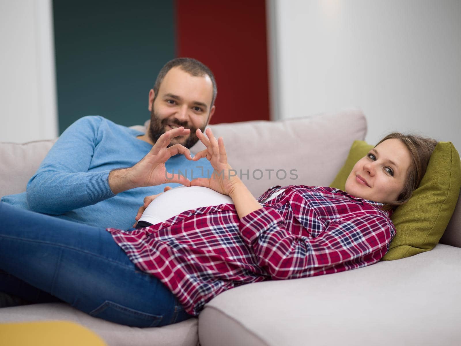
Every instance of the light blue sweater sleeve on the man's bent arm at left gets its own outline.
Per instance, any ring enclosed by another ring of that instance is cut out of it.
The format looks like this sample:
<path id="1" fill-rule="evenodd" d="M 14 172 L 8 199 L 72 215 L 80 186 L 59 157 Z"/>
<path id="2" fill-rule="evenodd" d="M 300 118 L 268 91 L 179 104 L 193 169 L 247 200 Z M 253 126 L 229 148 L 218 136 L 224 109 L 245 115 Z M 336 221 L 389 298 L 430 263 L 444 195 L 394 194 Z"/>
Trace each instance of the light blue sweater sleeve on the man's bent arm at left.
<path id="1" fill-rule="evenodd" d="M 27 184 L 31 210 L 58 215 L 115 196 L 109 187 L 110 170 L 88 172 L 101 121 L 83 117 L 59 137 Z"/>

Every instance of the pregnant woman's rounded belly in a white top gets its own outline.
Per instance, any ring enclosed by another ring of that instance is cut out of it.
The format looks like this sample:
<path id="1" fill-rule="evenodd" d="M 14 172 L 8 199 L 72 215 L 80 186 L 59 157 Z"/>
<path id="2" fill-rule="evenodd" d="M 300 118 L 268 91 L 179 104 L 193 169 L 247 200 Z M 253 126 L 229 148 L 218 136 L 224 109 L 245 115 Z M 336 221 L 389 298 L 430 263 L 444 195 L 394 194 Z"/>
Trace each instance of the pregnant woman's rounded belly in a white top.
<path id="1" fill-rule="evenodd" d="M 140 221 L 156 224 L 183 211 L 219 204 L 234 204 L 232 198 L 202 186 L 178 186 L 155 198 Z"/>

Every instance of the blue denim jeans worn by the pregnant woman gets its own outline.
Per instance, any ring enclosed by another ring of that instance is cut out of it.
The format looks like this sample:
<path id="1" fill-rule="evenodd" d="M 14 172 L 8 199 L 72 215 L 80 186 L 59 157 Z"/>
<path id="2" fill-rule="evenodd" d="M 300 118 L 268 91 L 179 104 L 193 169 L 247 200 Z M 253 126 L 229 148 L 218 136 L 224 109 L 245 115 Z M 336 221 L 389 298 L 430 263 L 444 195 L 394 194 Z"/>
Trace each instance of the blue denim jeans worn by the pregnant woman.
<path id="1" fill-rule="evenodd" d="M 192 317 L 105 229 L 6 203 L 0 203 L 0 269 L 0 291 L 32 302 L 63 300 L 107 321 L 160 327 Z"/>

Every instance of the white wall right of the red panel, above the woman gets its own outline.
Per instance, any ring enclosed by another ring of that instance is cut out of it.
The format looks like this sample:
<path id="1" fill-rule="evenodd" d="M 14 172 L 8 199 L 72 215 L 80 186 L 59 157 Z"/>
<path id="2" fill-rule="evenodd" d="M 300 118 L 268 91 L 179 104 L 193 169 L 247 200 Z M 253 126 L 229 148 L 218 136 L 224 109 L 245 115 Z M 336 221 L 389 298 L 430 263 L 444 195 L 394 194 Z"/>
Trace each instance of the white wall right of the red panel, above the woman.
<path id="1" fill-rule="evenodd" d="M 269 1 L 281 118 L 356 106 L 369 143 L 417 130 L 461 152 L 460 0 Z"/>

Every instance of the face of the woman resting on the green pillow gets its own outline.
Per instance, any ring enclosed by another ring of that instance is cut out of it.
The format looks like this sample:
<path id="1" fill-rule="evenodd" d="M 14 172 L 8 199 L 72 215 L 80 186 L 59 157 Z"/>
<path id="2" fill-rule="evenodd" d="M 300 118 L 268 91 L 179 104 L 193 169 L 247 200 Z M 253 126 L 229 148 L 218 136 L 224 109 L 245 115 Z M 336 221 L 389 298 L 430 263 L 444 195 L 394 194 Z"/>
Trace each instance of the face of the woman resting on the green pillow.
<path id="1" fill-rule="evenodd" d="M 371 149 L 352 168 L 346 192 L 370 201 L 396 201 L 407 180 L 411 156 L 399 139 L 386 139 Z"/>

